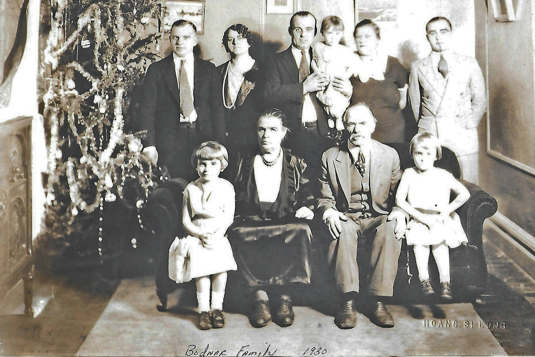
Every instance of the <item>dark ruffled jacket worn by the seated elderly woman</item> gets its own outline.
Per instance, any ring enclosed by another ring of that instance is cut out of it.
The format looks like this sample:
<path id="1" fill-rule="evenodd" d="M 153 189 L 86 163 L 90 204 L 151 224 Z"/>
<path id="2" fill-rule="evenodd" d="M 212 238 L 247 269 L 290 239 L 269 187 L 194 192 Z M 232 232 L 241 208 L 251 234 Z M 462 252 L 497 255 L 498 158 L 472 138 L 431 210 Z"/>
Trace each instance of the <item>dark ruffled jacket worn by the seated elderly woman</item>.
<path id="1" fill-rule="evenodd" d="M 293 217 L 301 207 L 314 209 L 315 186 L 307 175 L 307 164 L 302 158 L 283 149 L 282 178 L 277 200 L 268 209 L 263 209 L 256 189 L 253 162 L 259 152 L 250 152 L 239 158 L 238 170 L 234 180 L 236 191 L 236 215 L 242 219 L 277 219 Z"/>

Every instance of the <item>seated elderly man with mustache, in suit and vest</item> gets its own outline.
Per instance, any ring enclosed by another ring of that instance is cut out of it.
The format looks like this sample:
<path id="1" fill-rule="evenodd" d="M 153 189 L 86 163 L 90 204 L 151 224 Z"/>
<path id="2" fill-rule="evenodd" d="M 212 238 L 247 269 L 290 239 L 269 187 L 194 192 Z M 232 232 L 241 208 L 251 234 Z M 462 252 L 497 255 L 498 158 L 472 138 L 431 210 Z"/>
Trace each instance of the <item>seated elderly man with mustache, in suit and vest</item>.
<path id="1" fill-rule="evenodd" d="M 392 296 L 406 229 L 403 211 L 393 209 L 400 159 L 393 148 L 371 139 L 376 119 L 366 104 L 351 105 L 343 121 L 349 138 L 323 154 L 318 199 L 333 238 L 328 260 L 342 293 L 334 322 L 340 329 L 355 327 L 359 292 L 370 321 L 391 328 L 394 320 L 381 297 Z"/>

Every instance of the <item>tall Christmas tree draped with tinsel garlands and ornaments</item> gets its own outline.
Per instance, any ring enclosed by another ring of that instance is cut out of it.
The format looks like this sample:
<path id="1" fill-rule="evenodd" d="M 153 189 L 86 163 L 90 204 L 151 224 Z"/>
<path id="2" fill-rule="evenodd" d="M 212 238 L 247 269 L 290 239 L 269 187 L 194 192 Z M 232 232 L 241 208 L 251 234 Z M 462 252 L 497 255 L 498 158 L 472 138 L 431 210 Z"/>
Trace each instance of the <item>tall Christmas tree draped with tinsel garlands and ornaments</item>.
<path id="1" fill-rule="evenodd" d="M 156 0 L 50 0 L 50 7 L 43 74 L 48 180 L 38 243 L 60 256 L 87 222 L 102 225 L 106 202 L 123 198 L 127 182 L 142 193 L 134 198 L 137 208 L 154 185 L 141 155 L 142 133 L 125 133 L 124 125 L 129 93 L 157 56 L 162 6 Z M 158 31 L 147 31 L 155 23 Z M 98 241 L 102 256 L 102 226 Z"/>

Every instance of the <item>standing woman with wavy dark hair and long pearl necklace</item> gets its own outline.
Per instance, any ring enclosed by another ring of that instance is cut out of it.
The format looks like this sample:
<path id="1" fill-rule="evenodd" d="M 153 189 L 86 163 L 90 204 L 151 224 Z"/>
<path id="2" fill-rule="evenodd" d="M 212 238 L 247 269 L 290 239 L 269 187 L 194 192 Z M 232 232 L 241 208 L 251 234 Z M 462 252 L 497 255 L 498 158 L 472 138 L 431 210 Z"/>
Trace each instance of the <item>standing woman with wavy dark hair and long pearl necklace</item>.
<path id="1" fill-rule="evenodd" d="M 262 100 L 258 90 L 258 64 L 249 55 L 251 32 L 242 24 L 228 27 L 223 46 L 231 59 L 217 67 L 219 100 L 225 112 L 226 145 L 232 154 L 256 144 L 256 120 Z"/>

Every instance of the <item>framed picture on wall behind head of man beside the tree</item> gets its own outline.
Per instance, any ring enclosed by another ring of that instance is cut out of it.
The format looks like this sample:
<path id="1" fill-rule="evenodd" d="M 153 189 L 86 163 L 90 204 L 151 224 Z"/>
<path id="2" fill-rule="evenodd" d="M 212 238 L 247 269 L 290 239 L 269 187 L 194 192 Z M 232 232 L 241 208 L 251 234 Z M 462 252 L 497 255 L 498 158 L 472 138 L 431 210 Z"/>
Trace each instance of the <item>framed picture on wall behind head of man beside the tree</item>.
<path id="1" fill-rule="evenodd" d="M 185 19 L 197 27 L 197 34 L 204 33 L 204 0 L 166 0 L 163 14 L 164 31 L 171 31 L 174 21 Z"/>

